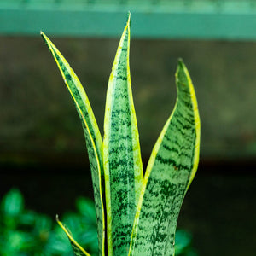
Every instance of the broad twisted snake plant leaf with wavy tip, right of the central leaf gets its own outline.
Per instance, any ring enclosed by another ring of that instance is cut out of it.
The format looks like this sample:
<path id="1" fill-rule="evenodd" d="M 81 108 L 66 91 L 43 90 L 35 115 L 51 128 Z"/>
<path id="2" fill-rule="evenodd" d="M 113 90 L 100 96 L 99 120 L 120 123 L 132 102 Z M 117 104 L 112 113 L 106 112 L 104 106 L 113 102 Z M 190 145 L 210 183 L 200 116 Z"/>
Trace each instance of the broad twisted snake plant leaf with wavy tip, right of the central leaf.
<path id="1" fill-rule="evenodd" d="M 189 72 L 179 61 L 177 102 L 144 177 L 129 255 L 174 255 L 177 217 L 198 166 L 200 119 Z"/>

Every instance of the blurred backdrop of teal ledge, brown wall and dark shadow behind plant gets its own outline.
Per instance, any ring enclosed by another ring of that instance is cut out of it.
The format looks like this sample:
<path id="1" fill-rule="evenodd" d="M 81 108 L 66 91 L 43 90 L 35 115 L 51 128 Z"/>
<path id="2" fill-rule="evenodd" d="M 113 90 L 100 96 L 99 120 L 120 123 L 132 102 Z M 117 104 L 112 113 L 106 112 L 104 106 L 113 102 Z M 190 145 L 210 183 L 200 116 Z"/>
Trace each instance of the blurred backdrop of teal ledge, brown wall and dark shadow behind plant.
<path id="1" fill-rule="evenodd" d="M 54 220 L 92 198 L 79 117 L 39 32 L 79 76 L 102 131 L 128 10 L 144 169 L 172 113 L 179 57 L 195 85 L 201 161 L 178 221 L 195 248 L 186 255 L 256 255 L 255 0 L 1 0 L 1 200 L 19 189 L 26 207 Z"/>

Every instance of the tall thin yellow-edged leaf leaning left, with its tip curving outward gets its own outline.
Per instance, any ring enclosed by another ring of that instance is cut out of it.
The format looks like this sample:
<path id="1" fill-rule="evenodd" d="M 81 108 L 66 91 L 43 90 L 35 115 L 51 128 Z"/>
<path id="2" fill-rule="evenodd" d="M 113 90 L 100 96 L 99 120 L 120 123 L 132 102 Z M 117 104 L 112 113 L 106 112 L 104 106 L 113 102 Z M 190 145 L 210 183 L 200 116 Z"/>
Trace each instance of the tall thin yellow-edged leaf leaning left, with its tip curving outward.
<path id="1" fill-rule="evenodd" d="M 62 78 L 67 85 L 67 90 L 73 98 L 73 102 L 79 113 L 82 122 L 84 137 L 90 160 L 90 170 L 92 176 L 94 198 L 96 202 L 96 218 L 97 230 L 99 241 L 99 253 L 104 255 L 104 242 L 105 242 L 105 220 L 104 208 L 102 200 L 102 180 L 103 180 L 103 167 L 102 167 L 102 137 L 96 123 L 96 119 L 90 102 L 82 84 L 80 83 L 77 75 L 69 66 L 65 58 L 61 55 L 60 51 L 56 49 L 55 45 L 47 38 L 44 32 L 41 32 L 50 52 L 55 58 L 57 66 L 60 69 Z"/>

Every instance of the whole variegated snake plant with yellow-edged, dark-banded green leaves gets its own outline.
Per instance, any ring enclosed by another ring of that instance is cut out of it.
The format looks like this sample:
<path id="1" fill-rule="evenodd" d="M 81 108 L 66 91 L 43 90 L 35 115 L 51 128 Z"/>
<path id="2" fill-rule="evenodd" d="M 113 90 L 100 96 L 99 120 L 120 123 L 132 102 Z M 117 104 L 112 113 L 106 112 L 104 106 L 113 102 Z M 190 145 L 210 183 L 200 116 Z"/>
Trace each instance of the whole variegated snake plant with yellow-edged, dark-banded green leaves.
<path id="1" fill-rule="evenodd" d="M 41 32 L 84 128 L 94 190 L 99 255 L 174 255 L 177 217 L 199 161 L 200 118 L 189 72 L 179 60 L 177 102 L 143 164 L 129 67 L 130 17 L 108 81 L 102 139 L 89 99 L 60 51 Z M 64 224 L 75 255 L 90 255 Z"/>

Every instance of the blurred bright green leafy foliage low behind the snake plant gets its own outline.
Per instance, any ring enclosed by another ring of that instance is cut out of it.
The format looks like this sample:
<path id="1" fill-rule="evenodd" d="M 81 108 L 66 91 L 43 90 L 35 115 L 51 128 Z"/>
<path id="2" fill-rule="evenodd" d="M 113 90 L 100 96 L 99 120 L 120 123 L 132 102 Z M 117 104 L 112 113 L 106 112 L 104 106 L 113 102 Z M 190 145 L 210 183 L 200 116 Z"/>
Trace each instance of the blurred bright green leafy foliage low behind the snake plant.
<path id="1" fill-rule="evenodd" d="M 83 197 L 76 200 L 77 212 L 67 212 L 61 220 L 80 245 L 97 255 L 96 213 L 94 203 Z M 85 232 L 84 232 L 85 230 Z M 192 236 L 177 230 L 176 255 L 197 256 Z M 19 189 L 3 196 L 0 207 L 0 255 L 73 256 L 67 236 L 49 216 L 27 210 Z"/>

